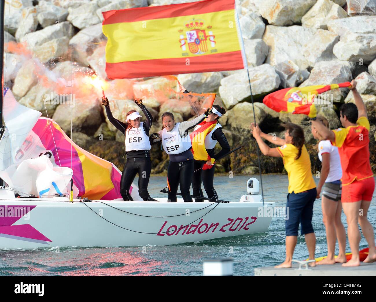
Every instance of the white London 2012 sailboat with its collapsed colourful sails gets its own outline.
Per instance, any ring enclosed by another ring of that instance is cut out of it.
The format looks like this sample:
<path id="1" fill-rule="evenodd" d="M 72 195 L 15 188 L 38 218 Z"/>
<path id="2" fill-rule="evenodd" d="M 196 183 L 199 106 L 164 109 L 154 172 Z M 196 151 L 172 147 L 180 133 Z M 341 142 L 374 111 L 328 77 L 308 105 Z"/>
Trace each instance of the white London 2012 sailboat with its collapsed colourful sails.
<path id="1" fill-rule="evenodd" d="M 165 198 L 147 202 L 141 201 L 134 185 L 135 201 L 84 199 L 75 173 L 85 173 L 85 161 L 97 164 L 94 170 L 112 175 L 111 186 L 102 188 L 105 192 L 118 190 L 114 174 L 120 171 L 71 142 L 52 119 L 19 104 L 9 89 L 4 91 L 6 129 L 0 140 L 0 176 L 7 186 L 0 189 L 0 248 L 173 245 L 267 231 L 271 217 L 264 213 L 274 203 L 262 202 L 256 178 L 248 181 L 247 195 L 236 202 L 169 202 Z M 47 141 L 54 142 L 50 149 Z M 59 156 L 59 152 L 67 153 L 68 147 L 63 146 L 67 142 L 80 153 L 76 159 L 81 170 L 67 160 L 69 154 Z M 112 170 L 103 169 L 105 165 Z M 103 183 L 97 181 L 96 187 L 90 177 L 98 178 L 83 175 L 84 190 L 96 196 Z M 72 201 L 71 178 L 75 179 Z M 118 192 L 110 193 L 102 196 L 119 197 Z"/>

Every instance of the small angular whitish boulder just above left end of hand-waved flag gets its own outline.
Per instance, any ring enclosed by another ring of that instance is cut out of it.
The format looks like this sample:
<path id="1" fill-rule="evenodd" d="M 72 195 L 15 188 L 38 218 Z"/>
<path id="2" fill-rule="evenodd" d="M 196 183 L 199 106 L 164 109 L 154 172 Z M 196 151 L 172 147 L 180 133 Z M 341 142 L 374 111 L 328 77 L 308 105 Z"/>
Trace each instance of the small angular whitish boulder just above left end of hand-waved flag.
<path id="1" fill-rule="evenodd" d="M 309 72 L 300 70 L 294 62 L 288 60 L 280 62 L 275 66 L 276 72 L 281 80 L 280 86 L 296 87 L 309 77 Z"/>

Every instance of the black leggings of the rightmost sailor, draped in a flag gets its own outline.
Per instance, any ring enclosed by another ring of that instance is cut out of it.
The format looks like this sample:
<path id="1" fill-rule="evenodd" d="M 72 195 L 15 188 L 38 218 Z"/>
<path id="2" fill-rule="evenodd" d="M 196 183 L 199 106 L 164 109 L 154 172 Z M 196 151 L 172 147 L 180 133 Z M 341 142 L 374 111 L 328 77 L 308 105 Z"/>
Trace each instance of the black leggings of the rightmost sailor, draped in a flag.
<path id="1" fill-rule="evenodd" d="M 206 163 L 205 160 L 195 160 L 194 161 L 194 171 L 197 169 L 202 168 L 202 166 Z M 214 181 L 214 169 L 215 165 L 207 170 L 199 170 L 197 172 L 194 172 L 193 174 L 193 195 L 195 196 L 202 196 L 204 197 L 204 194 L 201 189 L 201 182 L 204 183 L 204 189 L 206 194 L 208 195 L 208 198 L 211 202 L 218 202 L 218 194 L 214 190 L 213 181 Z M 202 199 L 195 199 L 196 202 L 203 201 Z"/>

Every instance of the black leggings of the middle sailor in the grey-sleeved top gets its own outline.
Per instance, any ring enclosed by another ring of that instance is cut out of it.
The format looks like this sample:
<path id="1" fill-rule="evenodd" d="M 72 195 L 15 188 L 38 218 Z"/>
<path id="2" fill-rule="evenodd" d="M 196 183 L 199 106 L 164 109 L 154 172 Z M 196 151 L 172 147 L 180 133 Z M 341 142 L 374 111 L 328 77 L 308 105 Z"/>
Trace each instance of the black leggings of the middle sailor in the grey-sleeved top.
<path id="1" fill-rule="evenodd" d="M 193 177 L 193 160 L 186 160 L 185 162 L 168 164 L 167 169 L 167 186 L 168 199 L 176 201 L 177 187 L 180 184 L 180 193 L 184 201 L 192 201 L 190 188 Z"/>

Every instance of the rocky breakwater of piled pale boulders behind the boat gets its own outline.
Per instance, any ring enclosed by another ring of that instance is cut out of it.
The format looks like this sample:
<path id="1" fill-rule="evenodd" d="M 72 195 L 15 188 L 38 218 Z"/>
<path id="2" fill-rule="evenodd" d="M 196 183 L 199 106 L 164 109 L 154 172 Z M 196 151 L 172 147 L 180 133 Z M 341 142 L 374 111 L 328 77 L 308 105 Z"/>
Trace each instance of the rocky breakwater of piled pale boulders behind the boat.
<path id="1" fill-rule="evenodd" d="M 14 0 L 5 9 L 5 82 L 17 100 L 55 119 L 73 140 L 123 169 L 124 136 L 106 118 L 101 92 L 86 78 L 106 79 L 102 12 L 111 9 L 168 5 L 184 0 Z M 73 5 L 72 5 L 73 3 Z M 296 86 L 341 83 L 356 79 L 371 122 L 371 164 L 376 171 L 376 9 L 374 0 L 237 0 L 247 71 L 176 75 L 189 91 L 217 94 L 226 108 L 220 119 L 230 146 L 243 148 L 221 160 L 217 172 L 258 173 L 255 140 L 249 133 L 253 114 L 261 129 L 283 135 L 283 122 L 302 125 L 312 172 L 320 169 L 308 118 L 276 113 L 262 103 L 265 95 Z M 10 13 L 10 15 L 8 15 Z M 73 62 L 71 62 L 71 58 Z M 164 111 L 176 121 L 193 118 L 189 106 L 176 105 L 176 82 L 164 77 L 108 80 L 106 95 L 115 118 L 124 120 L 141 97 L 153 115 L 152 132 L 161 129 Z M 58 101 L 52 101 L 58 96 Z M 68 100 L 62 95 L 71 95 Z M 74 100 L 73 100 L 74 98 Z M 340 127 L 338 109 L 352 102 L 348 89 L 326 93 L 318 111 L 332 128 Z M 62 103 L 63 102 L 63 103 Z M 71 124 L 72 120 L 72 124 Z M 218 148 L 219 146 L 217 146 Z M 168 159 L 152 149 L 153 172 L 166 172 Z M 261 156 L 263 173 L 283 173 L 279 158 Z"/>

